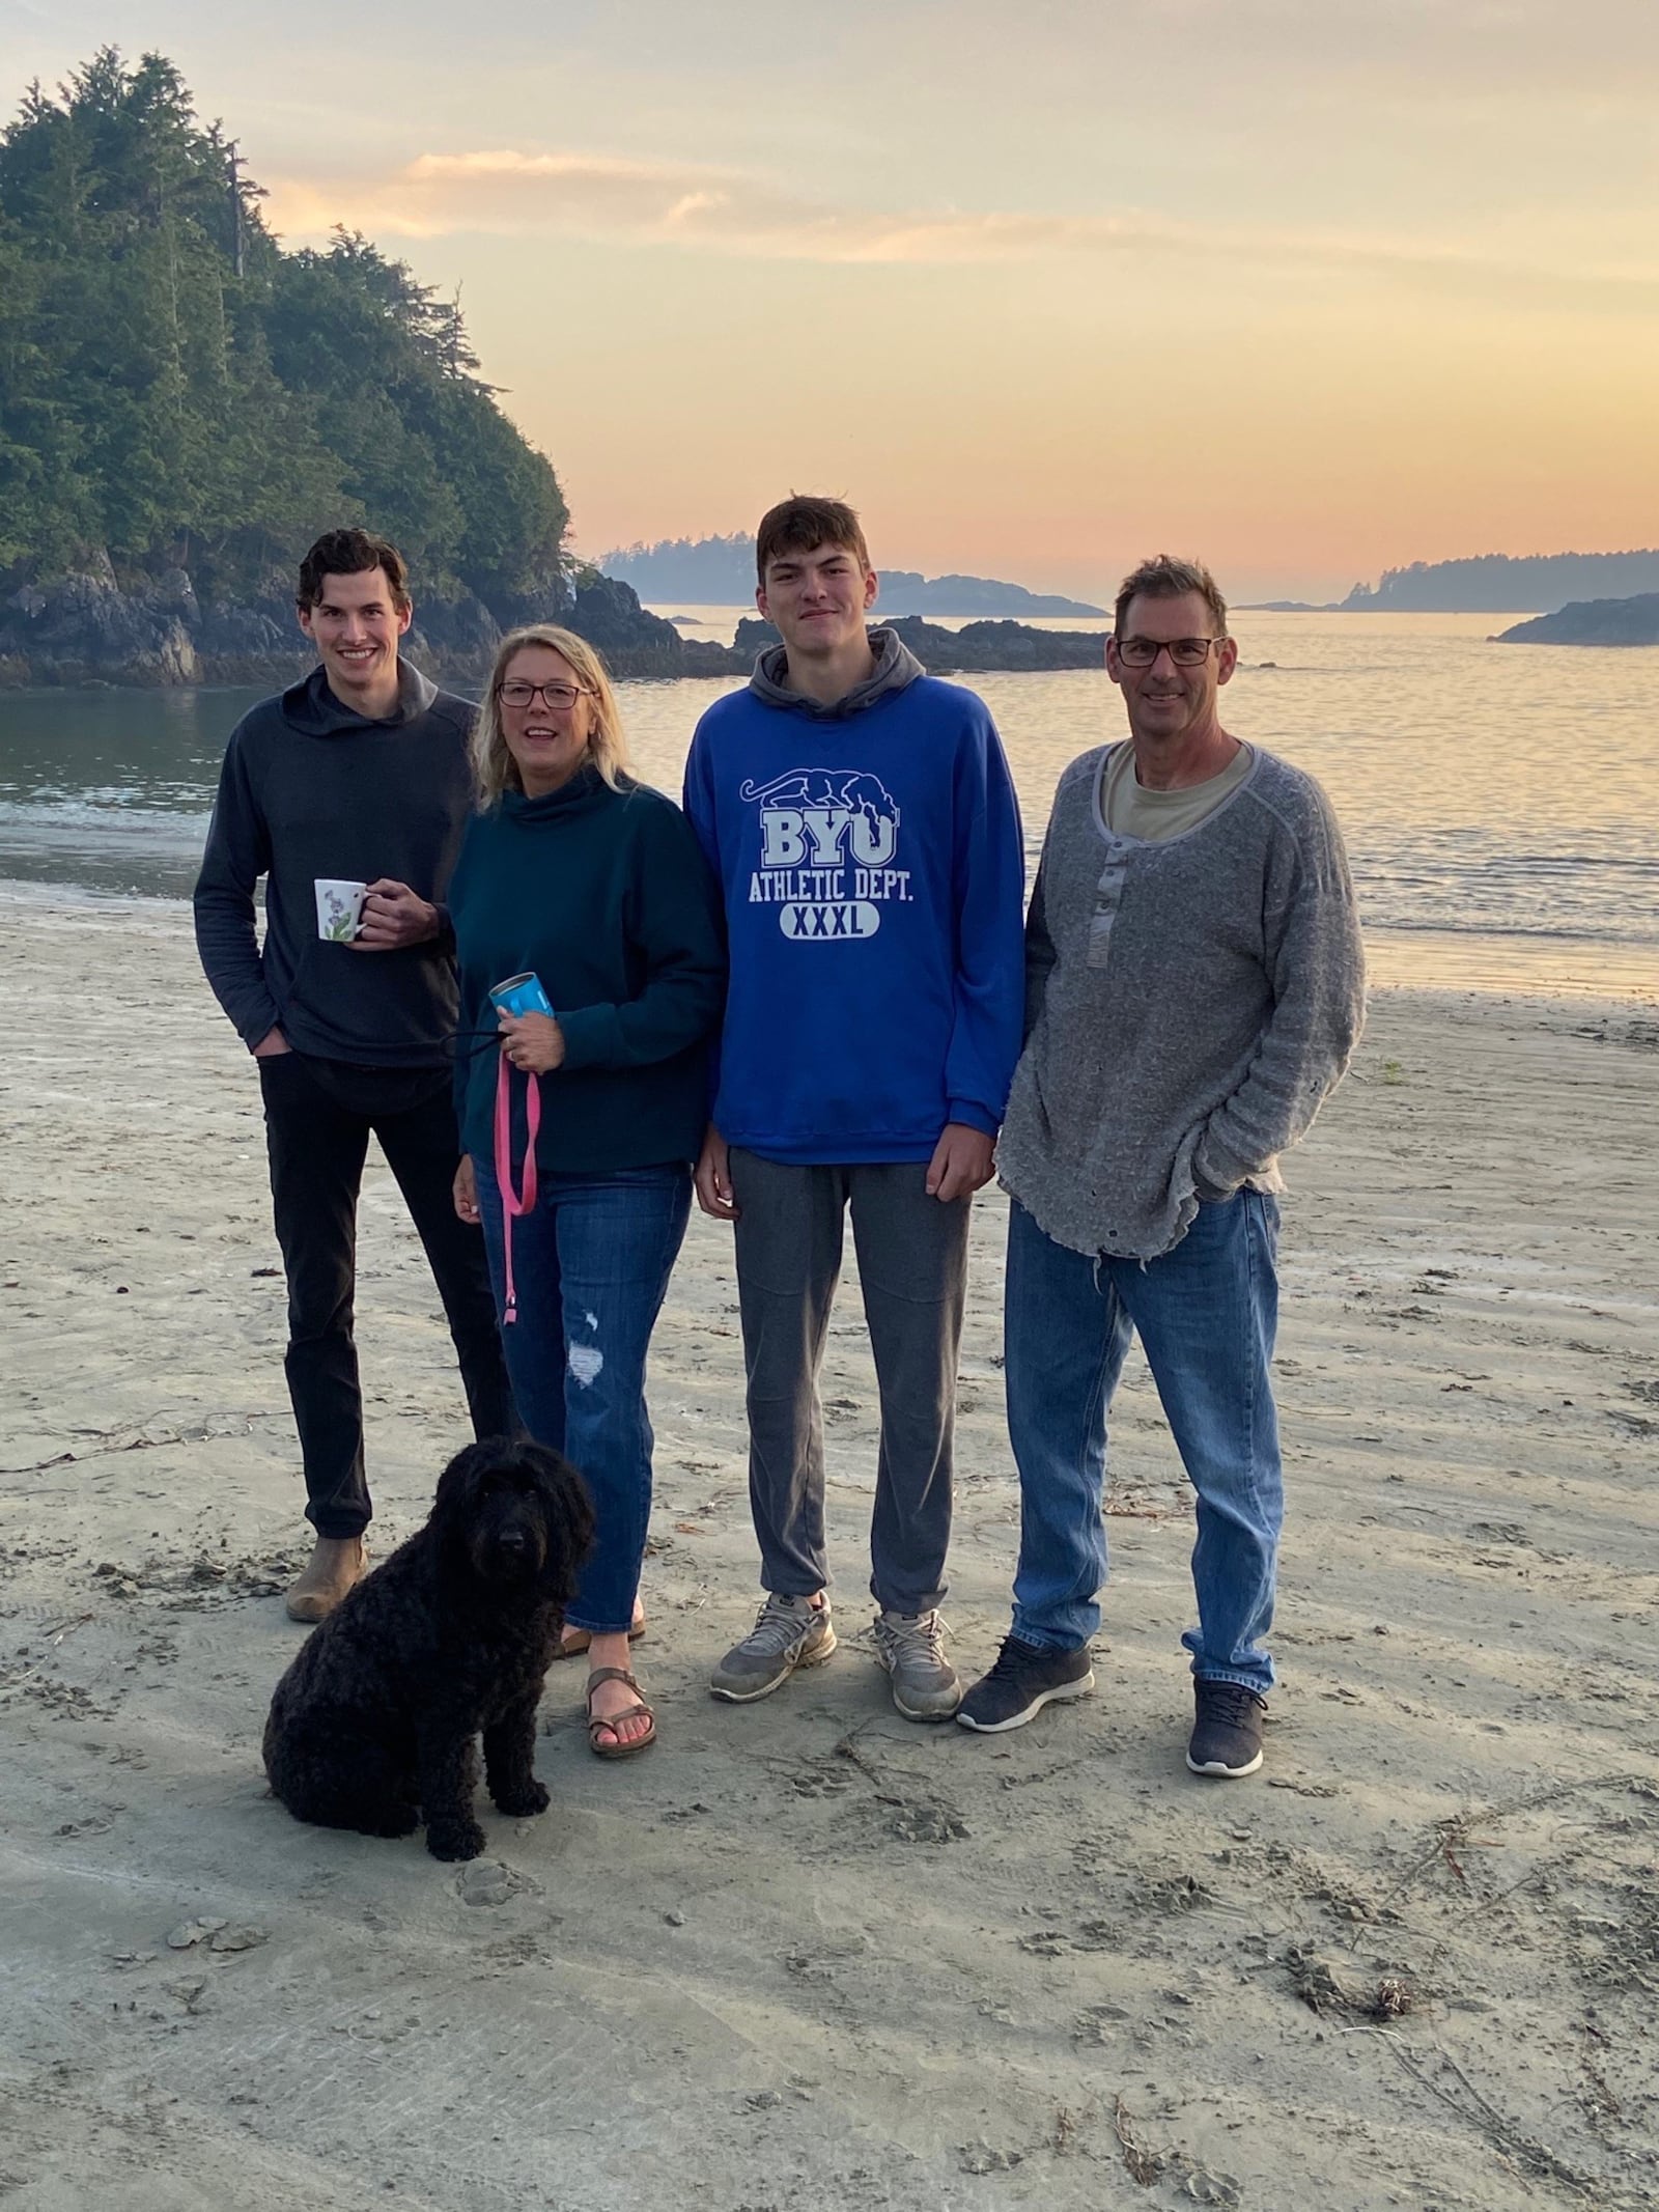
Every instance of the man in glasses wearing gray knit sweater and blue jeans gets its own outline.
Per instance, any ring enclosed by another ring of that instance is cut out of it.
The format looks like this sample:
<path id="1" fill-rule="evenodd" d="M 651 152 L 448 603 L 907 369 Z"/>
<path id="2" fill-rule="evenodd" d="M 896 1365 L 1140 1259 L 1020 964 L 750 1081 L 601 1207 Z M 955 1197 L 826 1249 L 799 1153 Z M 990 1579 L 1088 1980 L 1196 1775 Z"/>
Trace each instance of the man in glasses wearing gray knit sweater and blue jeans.
<path id="1" fill-rule="evenodd" d="M 1073 761 L 1055 794 L 998 1146 L 1013 1632 L 956 1714 L 995 1734 L 1095 1686 L 1106 1407 L 1139 1332 L 1197 1491 L 1188 1767 L 1221 1776 L 1261 1765 L 1274 1681 L 1279 1155 L 1365 1015 L 1336 818 L 1312 776 L 1221 728 L 1237 657 L 1208 568 L 1137 568 L 1106 644 L 1128 743 Z"/>

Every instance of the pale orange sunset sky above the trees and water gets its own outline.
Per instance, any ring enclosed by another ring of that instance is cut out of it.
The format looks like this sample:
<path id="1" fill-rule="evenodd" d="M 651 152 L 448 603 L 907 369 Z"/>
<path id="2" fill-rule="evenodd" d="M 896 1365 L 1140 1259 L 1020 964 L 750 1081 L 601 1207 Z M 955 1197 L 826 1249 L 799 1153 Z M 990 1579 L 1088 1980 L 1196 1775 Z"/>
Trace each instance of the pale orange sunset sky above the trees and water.
<path id="1" fill-rule="evenodd" d="M 1091 597 L 1659 542 L 1655 0 L 0 0 L 7 104 L 102 42 L 288 246 L 462 285 L 588 555 L 787 489 Z"/>

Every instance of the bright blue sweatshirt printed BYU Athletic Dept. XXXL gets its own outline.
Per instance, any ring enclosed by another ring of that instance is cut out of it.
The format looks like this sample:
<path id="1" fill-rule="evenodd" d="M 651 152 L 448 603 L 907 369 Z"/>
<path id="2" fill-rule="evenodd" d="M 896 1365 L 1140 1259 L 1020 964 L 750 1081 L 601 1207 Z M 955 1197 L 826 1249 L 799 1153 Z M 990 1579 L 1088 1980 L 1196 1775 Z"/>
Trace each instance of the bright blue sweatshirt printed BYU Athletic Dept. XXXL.
<path id="1" fill-rule="evenodd" d="M 697 723 L 686 814 L 726 898 L 714 1126 L 765 1159 L 929 1159 L 995 1135 L 1020 1057 L 1024 847 L 982 699 L 891 630 L 823 708 L 783 648 Z"/>

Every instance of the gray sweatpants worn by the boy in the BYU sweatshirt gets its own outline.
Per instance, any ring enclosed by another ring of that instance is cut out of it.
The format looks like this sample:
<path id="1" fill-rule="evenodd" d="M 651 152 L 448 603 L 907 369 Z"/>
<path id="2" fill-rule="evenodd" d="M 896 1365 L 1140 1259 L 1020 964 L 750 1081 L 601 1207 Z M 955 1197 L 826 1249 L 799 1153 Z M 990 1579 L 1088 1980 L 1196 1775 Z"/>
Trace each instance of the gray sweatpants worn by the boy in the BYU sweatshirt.
<path id="1" fill-rule="evenodd" d="M 887 1613 L 927 1613 L 945 1597 L 951 1542 L 956 1354 L 973 1201 L 929 1199 L 922 1161 L 796 1168 L 737 1146 L 732 1194 L 761 1586 L 812 1597 L 830 1579 L 818 1369 L 852 1208 L 880 1389 L 869 1588 Z"/>

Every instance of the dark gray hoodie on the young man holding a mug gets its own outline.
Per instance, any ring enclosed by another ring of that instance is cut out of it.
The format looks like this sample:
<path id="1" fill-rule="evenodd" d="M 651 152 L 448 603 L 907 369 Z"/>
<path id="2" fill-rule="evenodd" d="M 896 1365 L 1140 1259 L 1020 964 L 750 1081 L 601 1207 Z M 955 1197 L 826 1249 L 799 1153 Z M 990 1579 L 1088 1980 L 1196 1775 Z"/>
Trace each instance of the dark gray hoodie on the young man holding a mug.
<path id="1" fill-rule="evenodd" d="M 473 708 L 398 664 L 398 712 L 369 721 L 321 668 L 230 732 L 195 891 L 215 998 L 252 1048 L 361 1066 L 445 1066 L 456 1035 L 449 925 L 434 942 L 361 953 L 316 933 L 319 876 L 392 876 L 442 902 L 471 810 Z M 254 885 L 265 878 L 265 942 Z"/>

